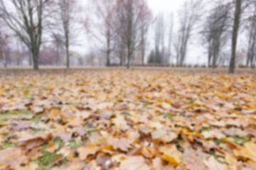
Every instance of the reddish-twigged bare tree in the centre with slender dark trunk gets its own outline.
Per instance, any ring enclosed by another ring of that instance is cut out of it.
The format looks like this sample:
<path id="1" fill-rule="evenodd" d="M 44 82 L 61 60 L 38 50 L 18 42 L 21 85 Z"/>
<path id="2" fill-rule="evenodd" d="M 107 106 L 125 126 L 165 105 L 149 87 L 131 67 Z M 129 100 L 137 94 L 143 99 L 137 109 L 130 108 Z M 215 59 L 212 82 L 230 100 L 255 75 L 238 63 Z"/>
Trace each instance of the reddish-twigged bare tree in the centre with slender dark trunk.
<path id="1" fill-rule="evenodd" d="M 129 69 L 132 56 L 139 46 L 142 21 L 151 16 L 148 4 L 144 0 L 117 0 L 117 30 L 122 44 L 127 50 L 127 68 Z"/>

